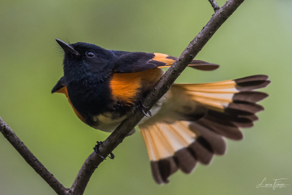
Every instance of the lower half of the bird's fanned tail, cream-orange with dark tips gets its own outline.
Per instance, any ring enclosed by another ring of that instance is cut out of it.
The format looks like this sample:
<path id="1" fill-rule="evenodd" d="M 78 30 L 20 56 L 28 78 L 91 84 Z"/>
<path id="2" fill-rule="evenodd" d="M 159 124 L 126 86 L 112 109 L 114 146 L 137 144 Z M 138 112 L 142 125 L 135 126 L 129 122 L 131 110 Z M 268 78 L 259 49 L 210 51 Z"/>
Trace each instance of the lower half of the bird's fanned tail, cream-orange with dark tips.
<path id="1" fill-rule="evenodd" d="M 226 146 L 222 136 L 210 130 L 190 128 L 192 124 L 187 121 L 140 125 L 152 175 L 158 184 L 168 183 L 168 177 L 178 169 L 190 173 L 197 162 L 206 165 L 210 163 L 213 153 L 224 153 Z"/>

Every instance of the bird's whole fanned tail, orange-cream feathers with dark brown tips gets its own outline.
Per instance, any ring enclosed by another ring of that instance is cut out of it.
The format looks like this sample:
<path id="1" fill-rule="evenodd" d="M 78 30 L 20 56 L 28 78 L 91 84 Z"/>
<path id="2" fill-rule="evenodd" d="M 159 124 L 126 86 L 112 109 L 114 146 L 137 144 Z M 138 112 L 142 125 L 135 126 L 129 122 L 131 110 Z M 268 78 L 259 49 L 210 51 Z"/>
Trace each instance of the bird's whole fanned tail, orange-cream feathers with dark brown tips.
<path id="1" fill-rule="evenodd" d="M 223 137 L 240 140 L 239 127 L 251 127 L 264 108 L 256 102 L 266 98 L 266 75 L 201 84 L 173 84 L 165 105 L 139 125 L 158 183 L 167 183 L 178 169 L 190 173 L 197 162 L 208 164 L 213 154 L 222 155 Z M 182 99 L 183 97 L 183 99 Z M 171 102 L 169 102 L 171 101 Z M 183 111 L 182 111 L 183 109 Z M 173 114 L 176 113 L 176 114 Z"/>

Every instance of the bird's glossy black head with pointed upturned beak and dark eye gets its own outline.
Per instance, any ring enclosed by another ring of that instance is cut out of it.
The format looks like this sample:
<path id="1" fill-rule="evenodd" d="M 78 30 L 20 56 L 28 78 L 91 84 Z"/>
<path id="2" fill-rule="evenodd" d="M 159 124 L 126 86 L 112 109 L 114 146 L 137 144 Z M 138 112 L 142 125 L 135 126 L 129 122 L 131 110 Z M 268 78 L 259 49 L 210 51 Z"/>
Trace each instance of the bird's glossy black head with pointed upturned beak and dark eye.
<path id="1" fill-rule="evenodd" d="M 64 51 L 64 76 L 67 81 L 91 77 L 102 80 L 112 72 L 114 54 L 95 44 L 77 42 L 67 44 L 56 39 Z"/>

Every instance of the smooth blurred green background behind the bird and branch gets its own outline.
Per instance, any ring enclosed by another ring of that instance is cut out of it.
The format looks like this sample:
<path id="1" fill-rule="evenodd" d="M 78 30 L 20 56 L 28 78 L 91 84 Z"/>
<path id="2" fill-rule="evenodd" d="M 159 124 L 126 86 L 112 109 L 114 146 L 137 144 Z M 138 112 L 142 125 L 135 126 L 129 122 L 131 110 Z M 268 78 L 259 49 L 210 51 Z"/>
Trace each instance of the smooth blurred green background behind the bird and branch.
<path id="1" fill-rule="evenodd" d="M 222 6 L 225 0 L 218 1 Z M 218 63 L 213 72 L 187 68 L 176 81 L 213 82 L 267 74 L 255 126 L 244 140 L 227 140 L 227 152 L 170 183 L 152 179 L 139 132 L 100 164 L 84 194 L 291 194 L 292 1 L 245 1 L 196 59 Z M 62 76 L 55 39 L 106 49 L 179 56 L 208 22 L 213 9 L 199 1 L 0 2 L 0 116 L 65 187 L 70 187 L 95 141 L 109 134 L 84 125 L 66 97 L 51 94 Z M 0 136 L 0 194 L 55 194 Z M 287 178 L 282 189 L 256 188 Z"/>

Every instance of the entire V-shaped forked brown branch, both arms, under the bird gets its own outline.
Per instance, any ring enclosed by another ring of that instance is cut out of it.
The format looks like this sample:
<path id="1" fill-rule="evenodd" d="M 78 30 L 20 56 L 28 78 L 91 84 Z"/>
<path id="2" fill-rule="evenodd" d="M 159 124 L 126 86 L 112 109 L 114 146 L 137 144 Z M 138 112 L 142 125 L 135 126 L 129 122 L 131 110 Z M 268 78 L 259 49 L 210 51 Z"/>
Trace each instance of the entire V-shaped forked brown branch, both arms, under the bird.
<path id="1" fill-rule="evenodd" d="M 148 107 L 145 112 L 167 92 L 171 84 L 194 59 L 203 46 L 208 42 L 218 28 L 229 18 L 229 16 L 238 8 L 244 0 L 229 0 L 221 8 L 215 1 L 209 0 L 214 8 L 215 14 L 209 22 L 203 27 L 201 32 L 190 42 L 183 53 L 173 63 L 173 65 L 161 77 L 156 86 L 149 92 L 144 100 L 144 105 Z M 144 117 L 141 110 L 135 110 L 133 115 L 124 120 L 112 134 L 107 137 L 100 147 L 100 153 L 103 157 L 112 152 L 128 135 L 128 133 Z M 15 135 L 10 127 L 0 118 L 0 131 L 20 153 L 25 161 L 55 190 L 57 194 L 81 195 L 84 193 L 86 185 L 94 170 L 103 161 L 95 152 L 91 153 L 81 169 L 70 189 L 66 189 L 55 177 L 42 165 L 36 157 L 29 151 L 23 142 Z"/>

